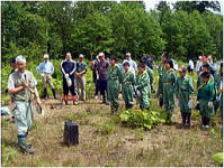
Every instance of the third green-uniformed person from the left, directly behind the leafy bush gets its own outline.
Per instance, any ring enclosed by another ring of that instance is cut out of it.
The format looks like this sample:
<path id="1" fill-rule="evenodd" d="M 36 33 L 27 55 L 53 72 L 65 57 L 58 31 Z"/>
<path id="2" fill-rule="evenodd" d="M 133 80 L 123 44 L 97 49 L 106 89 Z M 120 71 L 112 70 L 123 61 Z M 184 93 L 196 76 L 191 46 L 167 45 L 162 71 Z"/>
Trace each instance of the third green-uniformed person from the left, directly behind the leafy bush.
<path id="1" fill-rule="evenodd" d="M 145 70 L 145 65 L 140 63 L 136 75 L 135 92 L 142 110 L 149 109 L 149 85 L 150 81 L 148 73 Z"/>

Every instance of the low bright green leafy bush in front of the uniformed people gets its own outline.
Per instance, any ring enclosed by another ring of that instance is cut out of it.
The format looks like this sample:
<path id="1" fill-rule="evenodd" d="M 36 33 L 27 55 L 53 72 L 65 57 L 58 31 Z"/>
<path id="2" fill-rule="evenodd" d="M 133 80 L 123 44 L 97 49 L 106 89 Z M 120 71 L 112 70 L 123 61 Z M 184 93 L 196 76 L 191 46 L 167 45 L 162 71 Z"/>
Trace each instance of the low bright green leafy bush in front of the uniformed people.
<path id="1" fill-rule="evenodd" d="M 165 122 L 164 115 L 156 111 L 126 110 L 119 117 L 126 126 L 142 127 L 148 130 L 155 124 Z"/>

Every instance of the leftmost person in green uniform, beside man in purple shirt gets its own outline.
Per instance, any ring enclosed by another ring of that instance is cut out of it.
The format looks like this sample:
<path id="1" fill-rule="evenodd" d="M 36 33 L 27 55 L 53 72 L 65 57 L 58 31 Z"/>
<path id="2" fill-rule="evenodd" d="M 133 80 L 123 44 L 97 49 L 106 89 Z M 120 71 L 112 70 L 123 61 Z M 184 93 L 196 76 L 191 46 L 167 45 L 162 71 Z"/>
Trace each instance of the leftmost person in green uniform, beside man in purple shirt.
<path id="1" fill-rule="evenodd" d="M 110 66 L 108 69 L 108 99 L 111 103 L 111 113 L 115 114 L 118 111 L 119 102 L 119 81 L 120 77 L 120 69 L 116 64 L 117 58 L 111 57 Z"/>

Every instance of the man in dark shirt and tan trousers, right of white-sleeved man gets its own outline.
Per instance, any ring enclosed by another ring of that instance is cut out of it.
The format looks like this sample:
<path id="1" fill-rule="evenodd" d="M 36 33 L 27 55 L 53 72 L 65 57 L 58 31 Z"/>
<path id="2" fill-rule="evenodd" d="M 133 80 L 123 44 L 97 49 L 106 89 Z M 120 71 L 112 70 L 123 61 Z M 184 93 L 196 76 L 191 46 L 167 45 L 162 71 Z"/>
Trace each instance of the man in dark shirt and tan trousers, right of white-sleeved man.
<path id="1" fill-rule="evenodd" d="M 86 100 L 86 63 L 83 62 L 84 60 L 84 55 L 80 54 L 79 55 L 79 61 L 76 63 L 76 82 L 77 82 L 77 88 L 78 92 L 81 90 L 81 96 L 80 100 L 85 101 Z"/>

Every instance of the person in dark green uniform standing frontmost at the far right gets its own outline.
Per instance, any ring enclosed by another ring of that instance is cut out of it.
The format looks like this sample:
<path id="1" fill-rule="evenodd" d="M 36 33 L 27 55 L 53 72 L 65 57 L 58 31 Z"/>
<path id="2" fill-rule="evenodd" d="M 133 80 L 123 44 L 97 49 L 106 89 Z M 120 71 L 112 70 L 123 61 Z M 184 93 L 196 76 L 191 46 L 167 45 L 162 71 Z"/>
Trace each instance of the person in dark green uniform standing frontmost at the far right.
<path id="1" fill-rule="evenodd" d="M 202 127 L 209 128 L 210 118 L 214 115 L 214 81 L 211 80 L 208 72 L 203 72 L 201 77 L 202 84 L 198 87 L 198 100 L 202 118 Z"/>

